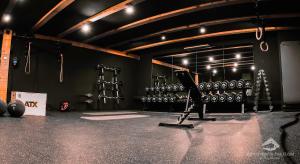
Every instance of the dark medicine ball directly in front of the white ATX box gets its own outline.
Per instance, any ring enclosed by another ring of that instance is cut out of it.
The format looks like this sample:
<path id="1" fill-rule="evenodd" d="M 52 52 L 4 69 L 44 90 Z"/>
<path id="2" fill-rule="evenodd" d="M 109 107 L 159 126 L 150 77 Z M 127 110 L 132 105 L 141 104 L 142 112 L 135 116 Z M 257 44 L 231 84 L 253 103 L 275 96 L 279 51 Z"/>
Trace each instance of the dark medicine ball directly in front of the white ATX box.
<path id="1" fill-rule="evenodd" d="M 12 101 L 8 104 L 7 111 L 11 117 L 22 117 L 25 112 L 25 104 L 20 100 Z"/>

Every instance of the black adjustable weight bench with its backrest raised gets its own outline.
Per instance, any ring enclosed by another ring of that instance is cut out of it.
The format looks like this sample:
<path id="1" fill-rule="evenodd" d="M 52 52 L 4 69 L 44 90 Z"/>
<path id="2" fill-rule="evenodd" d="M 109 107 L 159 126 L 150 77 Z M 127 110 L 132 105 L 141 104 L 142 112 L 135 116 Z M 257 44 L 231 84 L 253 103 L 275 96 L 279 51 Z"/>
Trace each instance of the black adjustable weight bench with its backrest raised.
<path id="1" fill-rule="evenodd" d="M 201 92 L 198 90 L 197 85 L 195 84 L 191 74 L 187 71 L 176 71 L 176 76 L 184 86 L 185 90 L 188 91 L 186 105 L 184 112 L 178 117 L 177 123 L 159 123 L 159 126 L 169 126 L 169 127 L 186 127 L 194 128 L 193 124 L 182 124 L 184 120 L 189 116 L 193 111 L 197 111 L 199 118 L 197 120 L 203 121 L 215 121 L 215 118 L 204 118 L 204 112 L 202 108 Z M 190 103 L 190 98 L 192 103 Z M 195 120 L 195 118 L 193 118 Z"/>

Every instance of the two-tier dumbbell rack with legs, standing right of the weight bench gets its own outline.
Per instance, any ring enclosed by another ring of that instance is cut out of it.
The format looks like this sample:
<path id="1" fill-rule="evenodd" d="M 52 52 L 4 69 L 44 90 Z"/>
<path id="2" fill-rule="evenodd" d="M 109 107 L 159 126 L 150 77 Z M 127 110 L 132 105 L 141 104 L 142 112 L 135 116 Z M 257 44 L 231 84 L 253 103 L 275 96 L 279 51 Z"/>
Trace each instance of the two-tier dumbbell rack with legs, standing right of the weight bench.
<path id="1" fill-rule="evenodd" d="M 245 87 L 245 81 L 223 81 L 223 82 L 210 82 L 210 83 L 201 83 L 199 85 L 199 89 L 202 92 L 203 95 L 203 112 L 206 113 L 207 105 L 226 105 L 226 104 L 240 104 L 241 105 L 241 113 L 245 113 L 245 103 L 246 103 L 246 91 L 247 89 L 250 89 L 249 82 L 247 82 L 248 87 Z M 215 86 L 217 84 L 219 86 Z M 203 86 L 204 85 L 204 86 Z M 211 85 L 211 86 L 210 86 Z M 207 88 L 208 87 L 208 88 Z M 226 91 L 230 91 L 227 93 Z M 233 97 L 233 91 L 236 91 L 237 93 Z M 241 94 L 239 93 L 241 92 Z M 214 93 L 214 94 L 213 94 Z M 218 97 L 217 97 L 218 96 Z M 229 99 L 231 96 L 231 99 Z M 237 97 L 239 96 L 239 97 Z M 209 99 L 210 98 L 210 99 Z M 219 99 L 222 98 L 222 101 L 219 101 Z M 209 99 L 209 100 L 207 100 Z M 215 99 L 215 101 L 214 101 Z M 229 100 L 226 100 L 229 99 Z M 234 99 L 237 99 L 234 101 Z M 232 100 L 232 101 L 231 101 Z M 207 102 L 208 101 L 208 102 Z"/>

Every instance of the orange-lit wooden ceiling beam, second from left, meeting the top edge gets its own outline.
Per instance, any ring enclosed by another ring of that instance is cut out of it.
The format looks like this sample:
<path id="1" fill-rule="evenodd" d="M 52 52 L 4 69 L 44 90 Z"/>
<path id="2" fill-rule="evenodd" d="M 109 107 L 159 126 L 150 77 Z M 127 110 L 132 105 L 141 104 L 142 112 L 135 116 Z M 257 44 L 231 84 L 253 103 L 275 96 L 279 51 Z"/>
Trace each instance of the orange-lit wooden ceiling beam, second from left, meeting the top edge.
<path id="1" fill-rule="evenodd" d="M 87 18 L 87 19 L 85 19 L 85 20 L 83 20 L 79 23 L 77 23 L 76 25 L 68 28 L 64 32 L 58 34 L 58 36 L 59 37 L 64 37 L 64 36 L 74 32 L 74 31 L 80 29 L 85 24 L 96 22 L 96 21 L 98 21 L 100 19 L 103 19 L 107 16 L 110 16 L 110 15 L 116 13 L 116 12 L 119 12 L 119 11 L 125 9 L 129 4 L 133 3 L 134 1 L 136 1 L 136 0 L 125 0 L 121 3 L 118 3 L 114 6 L 111 6 L 107 9 L 105 9 L 105 10 L 103 10 L 103 11 L 101 11 L 101 12 L 99 12 L 99 13 L 97 13 L 97 14 L 95 14 L 95 15 L 93 15 L 93 16 L 91 16 L 91 17 L 89 17 L 89 18 Z"/>

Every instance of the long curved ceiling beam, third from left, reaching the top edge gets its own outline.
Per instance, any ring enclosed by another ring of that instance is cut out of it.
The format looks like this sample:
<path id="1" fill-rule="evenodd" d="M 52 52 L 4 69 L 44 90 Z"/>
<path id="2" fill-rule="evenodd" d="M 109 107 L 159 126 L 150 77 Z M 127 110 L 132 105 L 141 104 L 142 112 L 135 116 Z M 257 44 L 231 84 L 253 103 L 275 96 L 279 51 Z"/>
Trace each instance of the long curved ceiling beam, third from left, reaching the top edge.
<path id="1" fill-rule="evenodd" d="M 200 11 L 200 10 L 206 10 L 206 9 L 217 8 L 217 7 L 223 7 L 223 6 L 250 3 L 250 2 L 254 2 L 254 1 L 253 0 L 218 0 L 218 1 L 214 1 L 214 2 L 207 2 L 207 3 L 202 3 L 202 4 L 198 4 L 198 5 L 178 9 L 178 10 L 173 10 L 170 12 L 154 15 L 154 16 L 151 16 L 151 17 L 148 17 L 145 19 L 141 19 L 136 22 L 132 22 L 132 23 L 126 24 L 124 26 L 118 27 L 116 29 L 95 35 L 94 37 L 87 39 L 85 42 L 92 42 L 92 41 L 104 38 L 108 35 L 113 35 L 118 32 L 122 32 L 122 31 L 129 30 L 129 29 L 132 29 L 135 27 L 143 26 L 143 25 L 146 25 L 149 23 L 157 22 L 160 20 L 172 18 L 175 16 L 187 14 L 187 13 L 192 13 L 192 12 L 196 12 L 196 11 Z"/>

